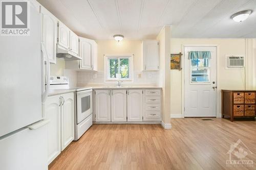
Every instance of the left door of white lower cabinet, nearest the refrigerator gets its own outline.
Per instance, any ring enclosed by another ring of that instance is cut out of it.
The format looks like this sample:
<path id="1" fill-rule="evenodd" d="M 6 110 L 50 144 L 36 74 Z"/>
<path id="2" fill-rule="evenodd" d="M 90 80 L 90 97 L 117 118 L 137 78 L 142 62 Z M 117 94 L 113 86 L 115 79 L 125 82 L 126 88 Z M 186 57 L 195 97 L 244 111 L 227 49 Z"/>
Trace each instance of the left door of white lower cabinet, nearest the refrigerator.
<path id="1" fill-rule="evenodd" d="M 60 104 L 60 95 L 50 96 L 45 103 L 45 118 L 50 120 L 50 123 L 47 124 L 48 164 L 50 164 L 61 152 Z"/>

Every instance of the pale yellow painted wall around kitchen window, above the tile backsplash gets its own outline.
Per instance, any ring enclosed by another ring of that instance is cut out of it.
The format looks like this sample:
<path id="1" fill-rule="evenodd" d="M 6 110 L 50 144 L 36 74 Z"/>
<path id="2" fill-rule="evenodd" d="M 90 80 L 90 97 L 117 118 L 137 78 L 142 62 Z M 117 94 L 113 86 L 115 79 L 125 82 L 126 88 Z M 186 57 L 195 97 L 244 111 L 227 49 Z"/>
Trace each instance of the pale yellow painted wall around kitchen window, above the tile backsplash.
<path id="1" fill-rule="evenodd" d="M 98 70 L 104 70 L 104 54 L 134 54 L 134 70 L 142 70 L 142 41 L 96 40 L 98 44 Z"/>

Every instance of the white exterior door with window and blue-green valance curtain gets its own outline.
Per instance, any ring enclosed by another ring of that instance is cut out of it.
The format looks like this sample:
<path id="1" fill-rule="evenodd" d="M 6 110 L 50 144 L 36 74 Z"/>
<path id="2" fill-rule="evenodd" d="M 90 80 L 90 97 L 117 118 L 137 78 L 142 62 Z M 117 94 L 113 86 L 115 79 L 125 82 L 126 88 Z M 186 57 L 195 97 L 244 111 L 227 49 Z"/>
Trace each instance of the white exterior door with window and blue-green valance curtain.
<path id="1" fill-rule="evenodd" d="M 189 59 L 189 52 L 209 51 L 209 59 Z M 185 47 L 185 117 L 216 116 L 216 46 Z"/>

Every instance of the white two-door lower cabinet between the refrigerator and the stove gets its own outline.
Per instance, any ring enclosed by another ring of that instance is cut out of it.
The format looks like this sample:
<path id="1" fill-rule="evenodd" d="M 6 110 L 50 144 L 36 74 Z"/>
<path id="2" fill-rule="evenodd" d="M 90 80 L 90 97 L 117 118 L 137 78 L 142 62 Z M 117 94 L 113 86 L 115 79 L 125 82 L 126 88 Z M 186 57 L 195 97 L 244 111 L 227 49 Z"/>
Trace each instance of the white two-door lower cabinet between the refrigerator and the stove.
<path id="1" fill-rule="evenodd" d="M 74 93 L 50 96 L 45 103 L 48 164 L 74 139 Z"/>

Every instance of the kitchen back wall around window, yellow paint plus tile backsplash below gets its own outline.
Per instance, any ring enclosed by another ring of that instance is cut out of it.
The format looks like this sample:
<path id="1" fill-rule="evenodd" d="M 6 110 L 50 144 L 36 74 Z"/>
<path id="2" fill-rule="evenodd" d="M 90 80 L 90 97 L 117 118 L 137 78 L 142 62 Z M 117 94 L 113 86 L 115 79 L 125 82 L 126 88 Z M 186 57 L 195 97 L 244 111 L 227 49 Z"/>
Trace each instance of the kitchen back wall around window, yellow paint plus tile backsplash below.
<path id="1" fill-rule="evenodd" d="M 98 71 L 79 71 L 78 86 L 104 86 L 104 55 L 106 54 L 134 54 L 133 85 L 157 86 L 159 71 L 142 71 L 142 41 L 141 40 L 96 40 L 98 45 Z M 130 82 L 123 82 L 129 84 Z M 116 82 L 108 82 L 115 84 Z"/>

